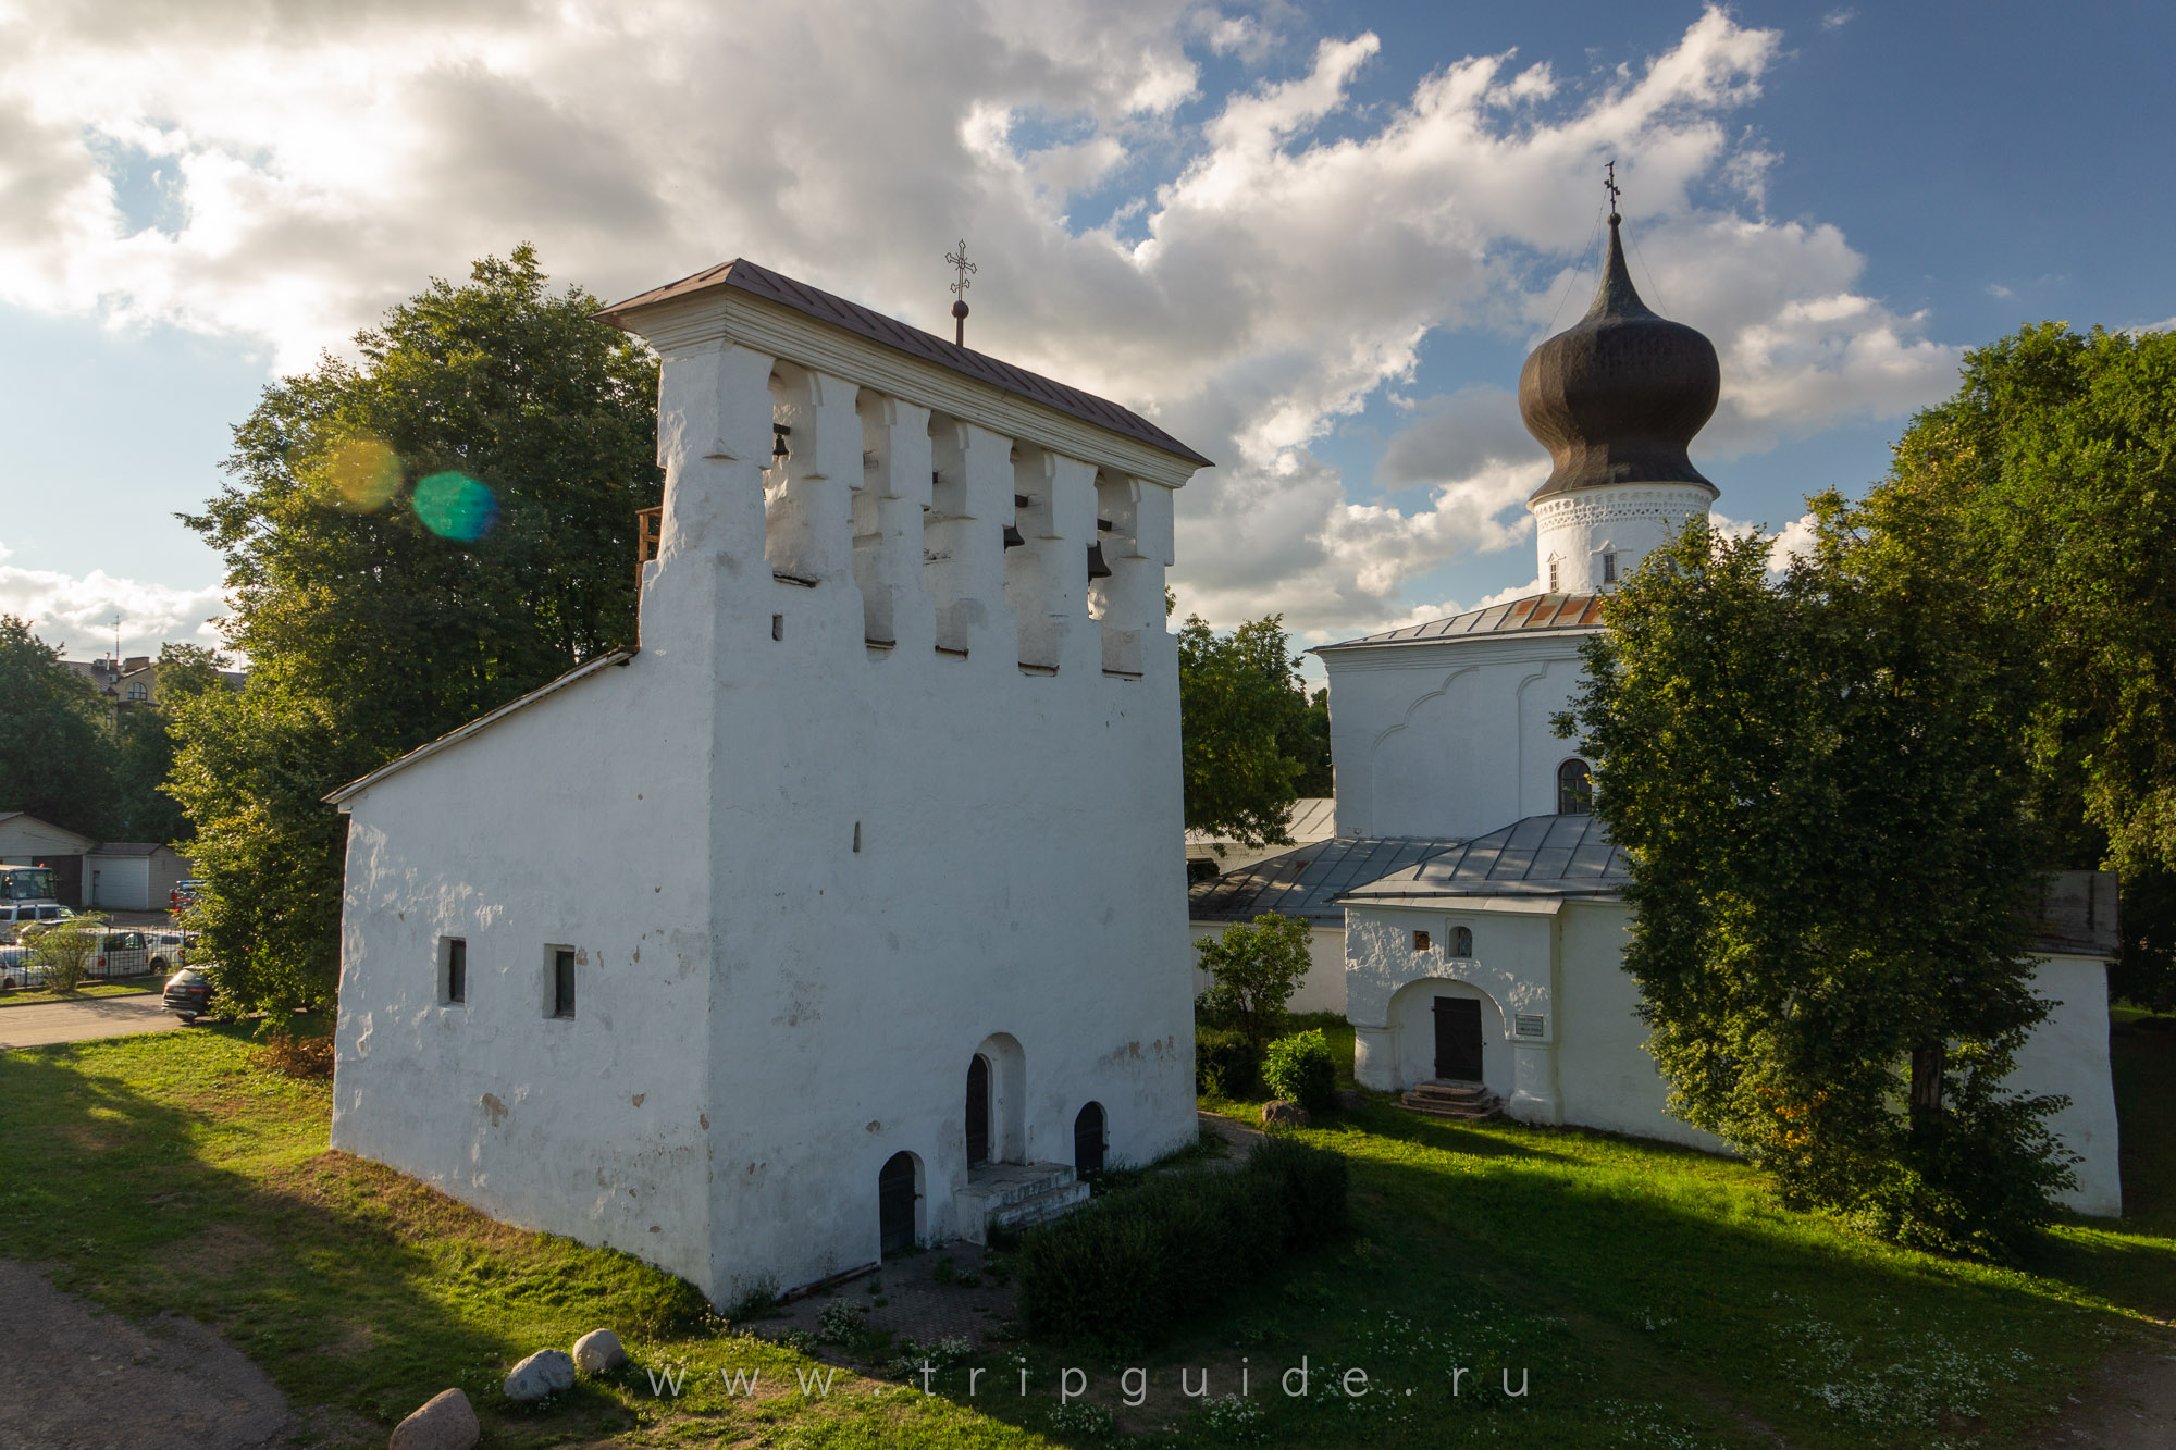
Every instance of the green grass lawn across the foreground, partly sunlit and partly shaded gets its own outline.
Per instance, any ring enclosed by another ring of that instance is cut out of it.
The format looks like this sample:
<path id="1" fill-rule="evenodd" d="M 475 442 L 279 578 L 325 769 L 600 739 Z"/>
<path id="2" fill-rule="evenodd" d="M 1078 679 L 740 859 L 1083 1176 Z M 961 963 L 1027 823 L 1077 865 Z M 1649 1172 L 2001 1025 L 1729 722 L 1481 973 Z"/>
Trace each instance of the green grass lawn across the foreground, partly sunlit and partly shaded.
<path id="1" fill-rule="evenodd" d="M 324 1152 L 324 1084 L 259 1069 L 242 1028 L 0 1056 L 0 1217 L 65 1289 L 218 1326 L 335 1443 L 383 1443 L 461 1385 L 490 1446 L 2000 1446 L 2176 1313 L 2176 1039 L 2126 1025 L 2115 1065 L 2132 1217 L 2065 1224 L 2019 1269 L 1784 1213 L 1739 1163 L 1371 1104 L 1306 1134 L 1351 1160 L 1349 1239 L 1153 1354 L 940 1356 L 931 1396 L 873 1343 L 801 1393 L 812 1359 L 675 1324 L 677 1280 Z M 598 1324 L 635 1356 L 622 1383 L 542 1411 L 498 1396 L 516 1359 Z M 1301 1356 L 1308 1393 L 1286 1396 Z M 651 1393 L 666 1365 L 690 1372 L 679 1398 Z M 1088 1396 L 1060 1411 L 1066 1367 Z M 762 1372 L 759 1393 L 727 1396 L 722 1369 Z"/>

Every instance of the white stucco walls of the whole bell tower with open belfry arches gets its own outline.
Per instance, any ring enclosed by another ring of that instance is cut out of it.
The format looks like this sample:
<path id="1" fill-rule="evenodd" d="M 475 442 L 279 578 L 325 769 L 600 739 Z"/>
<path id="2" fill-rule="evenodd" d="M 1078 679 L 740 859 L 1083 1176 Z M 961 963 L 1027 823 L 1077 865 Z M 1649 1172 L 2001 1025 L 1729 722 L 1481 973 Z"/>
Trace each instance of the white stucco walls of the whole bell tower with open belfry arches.
<path id="1" fill-rule="evenodd" d="M 344 792 L 333 1143 L 725 1302 L 875 1261 L 901 1152 L 916 1237 L 964 1232 L 977 1054 L 999 1163 L 1090 1102 L 1114 1158 L 1190 1141 L 1197 459 L 731 290 L 622 322 L 664 359 L 640 651 Z"/>

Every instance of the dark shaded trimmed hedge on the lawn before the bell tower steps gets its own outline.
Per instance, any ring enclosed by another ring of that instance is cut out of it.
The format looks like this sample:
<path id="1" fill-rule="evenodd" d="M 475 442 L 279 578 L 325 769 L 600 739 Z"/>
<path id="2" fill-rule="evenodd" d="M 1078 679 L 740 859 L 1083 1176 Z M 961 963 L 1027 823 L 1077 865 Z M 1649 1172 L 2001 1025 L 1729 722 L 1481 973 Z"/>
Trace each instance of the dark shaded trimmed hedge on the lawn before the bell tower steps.
<path id="1" fill-rule="evenodd" d="M 1038 1339 L 1142 1348 L 1340 1232 L 1347 1184 L 1343 1154 L 1271 1139 L 1236 1171 L 1158 1173 L 1099 1197 L 1021 1241 L 1021 1326 Z"/>

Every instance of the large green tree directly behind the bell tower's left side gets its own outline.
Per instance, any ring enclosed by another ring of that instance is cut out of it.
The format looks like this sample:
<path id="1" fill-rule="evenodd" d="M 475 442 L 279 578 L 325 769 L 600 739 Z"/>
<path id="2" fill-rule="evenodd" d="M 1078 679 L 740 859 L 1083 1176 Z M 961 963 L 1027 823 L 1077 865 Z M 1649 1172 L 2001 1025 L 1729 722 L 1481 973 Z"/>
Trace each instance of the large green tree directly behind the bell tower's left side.
<path id="1" fill-rule="evenodd" d="M 237 1004 L 333 991 L 344 825 L 320 797 L 635 638 L 657 364 L 546 283 L 529 246 L 485 257 L 359 333 L 361 361 L 268 388 L 185 518 L 250 655 L 248 690 L 174 716 Z"/>

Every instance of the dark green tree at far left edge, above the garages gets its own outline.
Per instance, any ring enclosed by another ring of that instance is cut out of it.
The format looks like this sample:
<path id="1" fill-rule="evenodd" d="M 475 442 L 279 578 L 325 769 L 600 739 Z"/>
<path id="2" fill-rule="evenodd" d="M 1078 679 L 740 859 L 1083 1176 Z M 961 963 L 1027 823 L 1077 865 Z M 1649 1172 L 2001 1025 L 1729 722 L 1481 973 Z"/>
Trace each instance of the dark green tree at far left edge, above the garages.
<path id="1" fill-rule="evenodd" d="M 0 614 L 0 810 L 104 836 L 113 708 L 13 614 Z"/>

